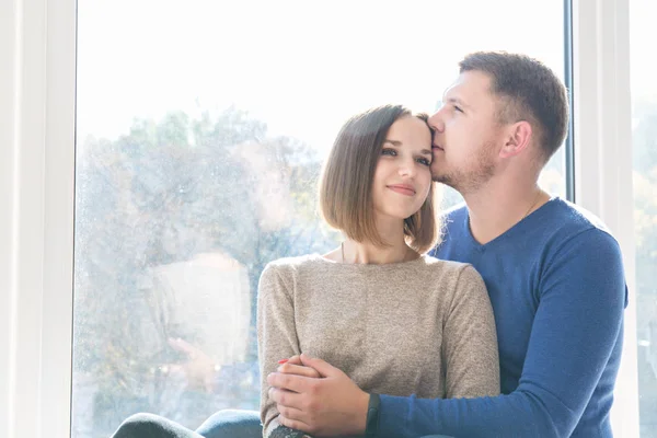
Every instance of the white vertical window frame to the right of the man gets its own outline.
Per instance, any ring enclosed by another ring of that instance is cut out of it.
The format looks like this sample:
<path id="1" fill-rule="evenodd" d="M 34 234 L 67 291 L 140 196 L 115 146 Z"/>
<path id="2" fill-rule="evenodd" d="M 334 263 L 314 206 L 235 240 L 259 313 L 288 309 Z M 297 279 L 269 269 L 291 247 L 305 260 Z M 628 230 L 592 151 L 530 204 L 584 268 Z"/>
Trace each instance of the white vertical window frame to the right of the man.
<path id="1" fill-rule="evenodd" d="M 618 239 L 630 290 L 614 392 L 618 437 L 638 437 L 629 0 L 573 0 L 575 203 Z M 592 165 L 590 165 L 592 163 Z"/>

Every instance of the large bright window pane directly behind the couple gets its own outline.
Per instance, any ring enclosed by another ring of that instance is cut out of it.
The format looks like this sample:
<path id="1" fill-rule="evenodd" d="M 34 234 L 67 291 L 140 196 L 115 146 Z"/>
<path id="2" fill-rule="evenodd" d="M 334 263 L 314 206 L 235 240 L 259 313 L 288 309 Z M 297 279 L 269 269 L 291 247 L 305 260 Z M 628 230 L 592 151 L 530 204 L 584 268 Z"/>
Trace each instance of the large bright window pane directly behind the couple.
<path id="1" fill-rule="evenodd" d="M 563 72 L 561 2 L 400 4 L 79 0 L 73 437 L 257 408 L 257 280 L 337 244 L 315 182 L 348 116 L 433 112 L 476 49 Z"/>

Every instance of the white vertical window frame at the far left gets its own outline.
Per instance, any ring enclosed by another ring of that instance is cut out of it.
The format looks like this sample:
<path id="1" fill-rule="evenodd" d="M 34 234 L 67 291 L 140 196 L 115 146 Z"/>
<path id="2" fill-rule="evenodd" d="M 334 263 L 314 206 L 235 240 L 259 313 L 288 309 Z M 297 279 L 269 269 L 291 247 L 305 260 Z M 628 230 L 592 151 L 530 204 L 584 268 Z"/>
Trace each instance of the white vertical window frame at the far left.
<path id="1" fill-rule="evenodd" d="M 0 436 L 70 434 L 76 1 L 0 2 Z"/>

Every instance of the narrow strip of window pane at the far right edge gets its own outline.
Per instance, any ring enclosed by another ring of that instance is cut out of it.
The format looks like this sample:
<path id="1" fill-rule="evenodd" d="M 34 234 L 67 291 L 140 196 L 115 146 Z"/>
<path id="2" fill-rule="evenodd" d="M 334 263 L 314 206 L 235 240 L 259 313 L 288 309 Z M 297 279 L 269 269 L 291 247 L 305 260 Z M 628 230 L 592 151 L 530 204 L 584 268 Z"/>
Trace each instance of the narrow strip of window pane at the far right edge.
<path id="1" fill-rule="evenodd" d="M 657 438 L 657 4 L 630 1 L 636 337 L 642 438 Z"/>

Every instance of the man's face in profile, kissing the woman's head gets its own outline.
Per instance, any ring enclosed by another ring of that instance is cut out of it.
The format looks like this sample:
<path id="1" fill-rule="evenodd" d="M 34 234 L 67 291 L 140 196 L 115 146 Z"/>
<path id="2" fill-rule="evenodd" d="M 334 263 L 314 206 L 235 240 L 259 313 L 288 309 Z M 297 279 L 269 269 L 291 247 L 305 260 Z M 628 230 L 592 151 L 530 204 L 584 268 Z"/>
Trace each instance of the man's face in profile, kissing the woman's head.
<path id="1" fill-rule="evenodd" d="M 491 92 L 491 78 L 466 71 L 445 92 L 442 107 L 429 118 L 434 136 L 434 181 L 461 194 L 479 189 L 494 174 L 504 146 L 497 122 L 498 99 Z"/>

